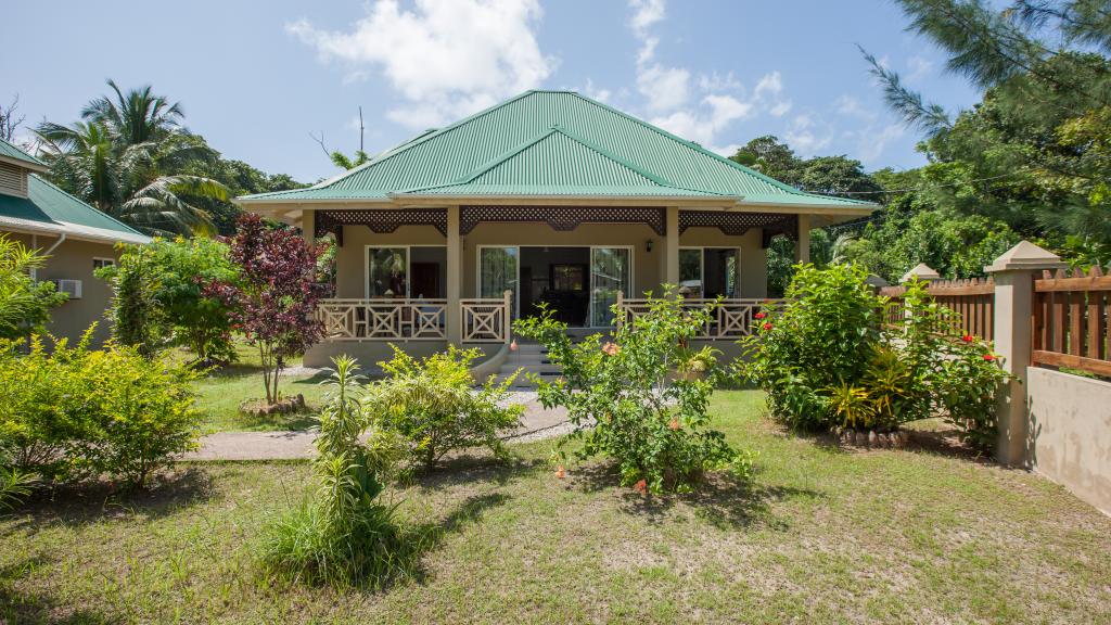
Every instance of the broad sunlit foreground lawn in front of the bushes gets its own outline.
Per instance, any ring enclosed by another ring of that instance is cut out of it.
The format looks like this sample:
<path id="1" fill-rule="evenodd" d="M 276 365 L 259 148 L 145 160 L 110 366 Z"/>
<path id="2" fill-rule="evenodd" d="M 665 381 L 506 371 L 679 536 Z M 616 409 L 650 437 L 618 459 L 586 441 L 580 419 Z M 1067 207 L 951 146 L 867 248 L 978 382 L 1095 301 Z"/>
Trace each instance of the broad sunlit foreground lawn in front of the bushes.
<path id="1" fill-rule="evenodd" d="M 783 433 L 757 391 L 712 410 L 751 488 L 645 500 L 550 442 L 391 489 L 419 574 L 383 591 L 259 577 L 264 519 L 307 464 L 182 466 L 152 493 L 59 492 L 0 517 L 0 621 L 1111 622 L 1111 518 L 1035 475 Z M 419 529 L 414 529 L 419 528 Z"/>

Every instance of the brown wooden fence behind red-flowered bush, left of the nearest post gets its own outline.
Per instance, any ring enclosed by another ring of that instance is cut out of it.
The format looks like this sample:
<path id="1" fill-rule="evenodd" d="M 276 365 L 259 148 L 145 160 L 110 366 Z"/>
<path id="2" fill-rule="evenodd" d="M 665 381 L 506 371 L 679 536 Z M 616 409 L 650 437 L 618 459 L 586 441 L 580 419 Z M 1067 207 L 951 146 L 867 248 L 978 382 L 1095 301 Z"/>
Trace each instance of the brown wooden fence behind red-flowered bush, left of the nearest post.
<path id="1" fill-rule="evenodd" d="M 888 325 L 898 326 L 905 319 L 902 300 L 905 292 L 907 287 L 880 289 L 880 295 L 890 298 L 883 310 Z M 952 323 L 937 328 L 938 333 L 972 335 L 985 340 L 994 338 L 995 282 L 991 278 L 933 281 L 927 287 L 927 292 L 940 306 L 955 312 Z"/>

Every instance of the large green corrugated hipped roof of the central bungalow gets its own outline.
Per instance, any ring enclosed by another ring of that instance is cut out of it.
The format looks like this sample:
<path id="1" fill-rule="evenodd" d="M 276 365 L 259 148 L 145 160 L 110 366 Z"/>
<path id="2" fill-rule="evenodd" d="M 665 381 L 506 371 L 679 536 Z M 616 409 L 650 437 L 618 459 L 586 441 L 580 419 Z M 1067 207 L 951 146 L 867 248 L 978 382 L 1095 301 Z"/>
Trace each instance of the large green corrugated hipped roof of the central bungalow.
<path id="1" fill-rule="evenodd" d="M 526 91 L 307 189 L 250 202 L 406 196 L 742 198 L 870 208 L 805 194 L 573 91 Z"/>

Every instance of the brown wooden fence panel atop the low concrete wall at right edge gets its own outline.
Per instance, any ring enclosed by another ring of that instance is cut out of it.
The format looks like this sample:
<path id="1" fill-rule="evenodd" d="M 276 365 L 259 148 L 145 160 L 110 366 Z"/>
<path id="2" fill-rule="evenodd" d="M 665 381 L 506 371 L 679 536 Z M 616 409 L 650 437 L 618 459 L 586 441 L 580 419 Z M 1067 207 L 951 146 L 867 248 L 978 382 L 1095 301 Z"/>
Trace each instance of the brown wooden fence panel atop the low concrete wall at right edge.
<path id="1" fill-rule="evenodd" d="M 1071 367 L 1111 376 L 1111 276 L 1100 267 L 1034 280 L 1034 365 Z"/>

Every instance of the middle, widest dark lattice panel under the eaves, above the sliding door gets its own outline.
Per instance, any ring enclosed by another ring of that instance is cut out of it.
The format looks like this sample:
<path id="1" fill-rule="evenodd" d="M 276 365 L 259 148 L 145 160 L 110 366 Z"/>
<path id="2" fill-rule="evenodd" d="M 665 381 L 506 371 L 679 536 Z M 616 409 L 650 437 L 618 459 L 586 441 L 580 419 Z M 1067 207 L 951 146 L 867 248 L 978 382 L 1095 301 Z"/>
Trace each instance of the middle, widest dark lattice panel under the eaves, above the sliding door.
<path id="1" fill-rule="evenodd" d="M 464 206 L 459 229 L 470 234 L 483 221 L 541 222 L 556 230 L 574 230 L 581 224 L 644 224 L 663 236 L 668 230 L 662 208 L 638 206 Z"/>

